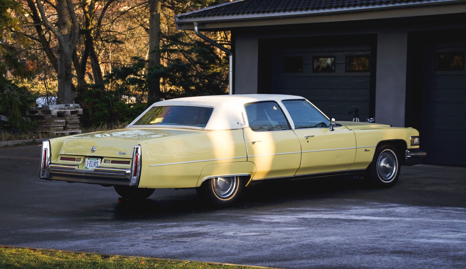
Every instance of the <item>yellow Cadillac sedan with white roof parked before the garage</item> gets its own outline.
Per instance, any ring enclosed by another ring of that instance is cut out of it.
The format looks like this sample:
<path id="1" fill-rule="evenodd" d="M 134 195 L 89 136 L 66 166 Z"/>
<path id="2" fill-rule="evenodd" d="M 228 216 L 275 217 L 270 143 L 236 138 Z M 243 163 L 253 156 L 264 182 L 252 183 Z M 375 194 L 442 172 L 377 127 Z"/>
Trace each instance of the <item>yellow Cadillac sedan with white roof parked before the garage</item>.
<path id="1" fill-rule="evenodd" d="M 227 206 L 259 180 L 361 174 L 390 187 L 425 154 L 416 129 L 336 122 L 299 96 L 186 97 L 152 104 L 124 129 L 42 142 L 40 178 L 114 186 L 126 199 L 196 188 Z"/>

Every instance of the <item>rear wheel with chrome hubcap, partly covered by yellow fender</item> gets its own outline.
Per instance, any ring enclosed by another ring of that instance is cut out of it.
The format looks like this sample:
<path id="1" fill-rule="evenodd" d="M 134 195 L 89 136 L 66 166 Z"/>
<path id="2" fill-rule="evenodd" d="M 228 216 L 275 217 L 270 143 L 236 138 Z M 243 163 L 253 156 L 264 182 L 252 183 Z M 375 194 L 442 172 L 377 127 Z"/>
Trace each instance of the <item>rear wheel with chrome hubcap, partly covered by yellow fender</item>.
<path id="1" fill-rule="evenodd" d="M 206 179 L 196 188 L 198 195 L 214 207 L 226 207 L 238 200 L 243 190 L 243 179 L 237 176 Z"/>

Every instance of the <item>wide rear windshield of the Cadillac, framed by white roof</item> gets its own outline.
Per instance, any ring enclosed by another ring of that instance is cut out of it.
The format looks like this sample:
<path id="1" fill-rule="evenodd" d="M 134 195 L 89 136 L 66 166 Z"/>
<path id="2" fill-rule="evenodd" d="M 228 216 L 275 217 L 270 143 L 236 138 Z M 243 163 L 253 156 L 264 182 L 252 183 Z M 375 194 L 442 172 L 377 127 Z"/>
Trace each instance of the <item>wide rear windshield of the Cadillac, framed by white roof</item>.
<path id="1" fill-rule="evenodd" d="M 147 111 L 133 125 L 180 125 L 204 128 L 213 108 L 201 106 L 156 106 Z"/>

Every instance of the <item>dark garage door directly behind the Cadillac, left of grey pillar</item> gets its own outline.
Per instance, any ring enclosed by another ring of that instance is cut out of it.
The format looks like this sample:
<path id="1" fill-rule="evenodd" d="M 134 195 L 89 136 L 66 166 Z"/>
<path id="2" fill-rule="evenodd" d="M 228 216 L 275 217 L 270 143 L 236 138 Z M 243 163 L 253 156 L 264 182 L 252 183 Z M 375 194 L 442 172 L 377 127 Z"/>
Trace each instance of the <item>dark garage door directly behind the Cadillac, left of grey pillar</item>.
<path id="1" fill-rule="evenodd" d="M 306 47 L 298 43 L 300 47 L 274 49 L 272 93 L 303 96 L 336 120 L 352 120 L 348 112 L 354 109 L 361 121 L 373 117 L 370 89 L 375 59 L 370 44 Z"/>

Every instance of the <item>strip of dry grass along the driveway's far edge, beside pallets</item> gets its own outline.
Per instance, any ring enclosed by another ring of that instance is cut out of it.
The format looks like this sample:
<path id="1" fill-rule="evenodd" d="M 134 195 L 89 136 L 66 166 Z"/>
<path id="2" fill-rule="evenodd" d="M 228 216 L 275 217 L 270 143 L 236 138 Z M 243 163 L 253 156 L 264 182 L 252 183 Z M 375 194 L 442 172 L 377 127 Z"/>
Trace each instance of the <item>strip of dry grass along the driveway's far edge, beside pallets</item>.
<path id="1" fill-rule="evenodd" d="M 92 126 L 87 128 L 80 128 L 82 133 L 95 132 L 95 131 L 107 131 L 114 129 L 121 129 L 128 125 L 128 123 L 114 123 L 114 124 L 101 124 L 98 126 Z M 23 140 L 23 139 L 39 139 L 39 138 L 54 138 L 61 137 L 63 134 L 50 135 L 49 133 L 44 132 L 34 132 L 34 131 L 23 131 L 21 133 L 12 133 L 7 131 L 0 131 L 0 141 L 10 141 L 10 140 Z"/>

